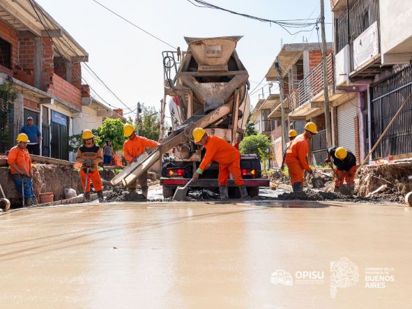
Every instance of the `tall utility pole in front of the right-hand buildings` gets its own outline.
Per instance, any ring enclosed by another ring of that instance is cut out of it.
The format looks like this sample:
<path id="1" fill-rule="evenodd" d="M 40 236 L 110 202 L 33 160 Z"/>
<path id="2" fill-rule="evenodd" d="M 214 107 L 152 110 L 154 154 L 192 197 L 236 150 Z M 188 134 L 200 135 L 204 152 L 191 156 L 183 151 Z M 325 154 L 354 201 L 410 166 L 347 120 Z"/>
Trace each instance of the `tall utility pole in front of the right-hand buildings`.
<path id="1" fill-rule="evenodd" d="M 332 146 L 332 127 L 330 126 L 328 68 L 326 63 L 326 34 L 325 34 L 325 3 L 321 0 L 321 32 L 322 32 L 322 68 L 323 68 L 323 96 L 325 97 L 325 124 L 326 143 Z"/>

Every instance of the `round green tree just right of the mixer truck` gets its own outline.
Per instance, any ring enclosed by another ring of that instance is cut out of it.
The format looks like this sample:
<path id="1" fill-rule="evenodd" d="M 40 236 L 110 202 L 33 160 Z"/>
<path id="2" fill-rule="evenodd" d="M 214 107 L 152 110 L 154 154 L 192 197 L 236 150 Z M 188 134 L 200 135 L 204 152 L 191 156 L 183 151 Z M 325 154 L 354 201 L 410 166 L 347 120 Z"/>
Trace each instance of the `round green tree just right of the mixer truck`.
<path id="1" fill-rule="evenodd" d="M 239 144 L 239 151 L 241 153 L 256 153 L 259 155 L 261 163 L 266 170 L 266 162 L 268 159 L 273 158 L 273 154 L 270 153 L 270 140 L 266 135 L 250 135 L 245 137 L 241 144 Z"/>

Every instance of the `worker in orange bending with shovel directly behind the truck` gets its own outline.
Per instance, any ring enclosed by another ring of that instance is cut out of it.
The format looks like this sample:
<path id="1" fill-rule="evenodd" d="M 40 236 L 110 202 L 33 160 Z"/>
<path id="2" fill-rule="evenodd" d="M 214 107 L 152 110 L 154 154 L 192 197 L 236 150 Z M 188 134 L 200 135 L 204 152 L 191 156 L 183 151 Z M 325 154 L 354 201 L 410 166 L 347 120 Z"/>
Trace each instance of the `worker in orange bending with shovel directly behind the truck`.
<path id="1" fill-rule="evenodd" d="M 193 130 L 193 138 L 196 144 L 206 148 L 206 154 L 200 163 L 199 168 L 193 174 L 192 179 L 197 180 L 206 168 L 215 161 L 219 163 L 219 191 L 220 199 L 228 199 L 227 179 L 229 173 L 232 174 L 236 186 L 241 192 L 241 197 L 246 198 L 247 190 L 241 174 L 241 153 L 234 146 L 223 140 L 221 137 L 207 135 L 203 128 Z"/>

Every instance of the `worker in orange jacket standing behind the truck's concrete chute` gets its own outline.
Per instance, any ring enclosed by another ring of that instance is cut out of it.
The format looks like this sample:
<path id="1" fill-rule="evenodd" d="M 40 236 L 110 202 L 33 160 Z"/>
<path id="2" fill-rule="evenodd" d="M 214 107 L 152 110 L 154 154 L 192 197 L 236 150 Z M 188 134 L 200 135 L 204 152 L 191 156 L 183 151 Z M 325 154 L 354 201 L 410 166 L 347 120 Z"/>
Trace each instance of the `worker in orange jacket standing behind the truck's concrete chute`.
<path id="1" fill-rule="evenodd" d="M 131 124 L 126 124 L 123 127 L 123 133 L 125 137 L 128 137 L 123 144 L 123 151 L 125 159 L 128 164 L 136 162 L 142 153 L 145 151 L 145 147 L 156 148 L 159 144 L 153 140 L 148 140 L 146 137 L 137 136 L 135 127 Z M 147 186 L 147 171 L 137 177 L 140 188 L 142 188 L 142 194 L 147 198 L 148 186 Z M 130 193 L 136 192 L 137 187 L 136 179 L 128 184 L 128 191 Z"/>

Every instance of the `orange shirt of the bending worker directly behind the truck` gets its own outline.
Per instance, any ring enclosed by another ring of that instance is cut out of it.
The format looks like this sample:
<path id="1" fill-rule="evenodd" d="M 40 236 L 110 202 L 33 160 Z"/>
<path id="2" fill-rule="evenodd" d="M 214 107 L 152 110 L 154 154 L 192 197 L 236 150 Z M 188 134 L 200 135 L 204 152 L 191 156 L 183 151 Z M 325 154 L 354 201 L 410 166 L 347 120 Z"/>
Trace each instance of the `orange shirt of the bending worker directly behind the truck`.
<path id="1" fill-rule="evenodd" d="M 218 136 L 208 135 L 208 141 L 206 145 L 204 145 L 204 148 L 206 148 L 206 154 L 199 166 L 202 171 L 204 171 L 212 161 L 225 166 L 234 162 L 234 160 L 239 160 L 241 156 L 238 149 Z"/>

